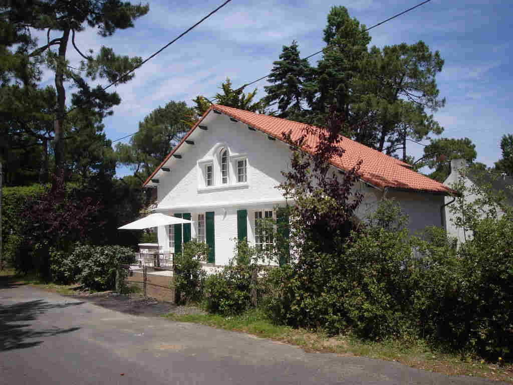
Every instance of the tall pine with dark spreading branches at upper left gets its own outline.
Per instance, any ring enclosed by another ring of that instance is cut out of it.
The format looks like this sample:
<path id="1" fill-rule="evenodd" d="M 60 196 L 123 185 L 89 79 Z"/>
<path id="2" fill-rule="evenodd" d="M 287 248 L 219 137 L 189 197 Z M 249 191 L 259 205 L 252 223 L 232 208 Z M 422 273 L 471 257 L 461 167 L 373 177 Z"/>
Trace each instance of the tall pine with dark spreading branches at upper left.
<path id="1" fill-rule="evenodd" d="M 7 21 L 9 30 L 24 31 L 27 43 L 26 47 L 33 46 L 30 35 L 31 30 L 45 31 L 47 33 L 46 44 L 32 49 L 25 49 L 19 56 L 21 68 L 16 72 L 17 78 L 23 78 L 24 73 L 43 62 L 54 72 L 55 103 L 47 106 L 51 112 L 48 116 L 41 116 L 40 111 L 25 109 L 25 113 L 18 113 L 16 118 L 19 129 L 25 130 L 29 135 L 38 133 L 40 121 L 52 122 L 54 167 L 60 170 L 64 162 L 63 139 L 72 130 L 73 124 L 69 123 L 66 104 L 67 92 L 65 85 L 71 84 L 76 89 L 71 97 L 71 108 L 79 107 L 78 114 L 84 117 L 94 115 L 94 120 L 101 121 L 106 115 L 111 114 L 110 108 L 120 103 L 117 93 L 109 93 L 101 86 L 91 88 L 87 79 L 94 81 L 96 78 L 105 78 L 109 82 L 125 83 L 133 78 L 133 73 L 123 75 L 128 70 L 141 63 L 140 57 L 128 57 L 116 55 L 111 48 L 102 47 L 96 56 L 92 50 L 78 48 L 76 35 L 87 27 L 97 28 L 98 34 L 103 37 L 111 36 L 117 29 L 133 27 L 133 22 L 148 12 L 148 5 L 132 5 L 120 0 L 84 0 L 81 2 L 69 2 L 67 0 L 19 0 L 9 2 L 0 8 L 3 20 Z M 54 38 L 53 36 L 57 35 Z M 68 48 L 70 46 L 83 57 L 78 70 L 73 69 L 68 61 Z M 52 50 L 56 46 L 56 50 Z M 18 49 L 19 51 L 19 49 Z M 84 53 L 86 52 L 86 53 Z M 84 73 L 84 75 L 83 75 Z M 27 85 L 28 82 L 24 82 Z M 3 90 L 4 91 L 4 90 Z M 12 90 L 11 90 L 12 91 Z M 31 94 L 32 92 L 32 94 Z M 12 92 L 11 92 L 12 93 Z M 30 105 L 35 100 L 34 91 L 26 88 L 24 93 L 14 95 L 21 103 Z M 32 113 L 28 113 L 28 112 Z M 14 111 L 16 112 L 16 111 Z M 23 112 L 23 111 L 22 111 Z M 88 129 L 90 125 L 88 125 Z M 77 134 L 75 132 L 75 134 Z M 48 138 L 46 138 L 48 139 Z M 60 174 L 56 172 L 56 174 Z"/>

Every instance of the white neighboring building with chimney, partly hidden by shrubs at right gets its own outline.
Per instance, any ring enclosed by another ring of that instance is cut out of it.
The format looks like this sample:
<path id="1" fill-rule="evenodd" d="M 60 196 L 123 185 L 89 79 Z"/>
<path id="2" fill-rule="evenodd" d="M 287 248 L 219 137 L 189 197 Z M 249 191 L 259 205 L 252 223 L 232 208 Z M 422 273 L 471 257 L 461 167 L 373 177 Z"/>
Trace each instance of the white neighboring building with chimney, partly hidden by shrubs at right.
<path id="1" fill-rule="evenodd" d="M 458 183 L 460 179 L 462 179 L 464 182 L 465 187 L 471 190 L 476 190 L 475 187 L 479 186 L 480 183 L 490 184 L 492 190 L 494 190 L 495 193 L 499 191 L 503 192 L 505 197 L 504 203 L 513 206 L 513 190 L 511 190 L 511 186 L 513 186 L 512 178 L 506 175 L 492 178 L 491 175 L 486 172 L 478 173 L 476 170 L 469 168 L 468 163 L 464 159 L 451 160 L 450 168 L 451 172 L 447 179 L 444 181 L 446 186 L 451 187 L 453 184 Z M 465 202 L 471 203 L 478 199 L 478 195 L 468 194 L 464 196 L 464 199 Z M 454 220 L 456 216 L 459 216 L 460 214 L 453 212 L 453 209 L 456 207 L 456 202 L 449 205 L 451 201 L 453 201 L 453 198 L 445 198 L 445 202 L 448 204 L 445 207 L 445 217 L 447 218 L 447 235 L 456 238 L 458 240 L 458 244 L 461 244 L 470 239 L 472 237 L 472 233 L 470 230 L 465 230 L 464 228 L 457 227 L 455 225 Z M 504 211 L 501 209 L 501 207 L 497 206 L 497 209 L 499 215 L 504 214 Z"/>

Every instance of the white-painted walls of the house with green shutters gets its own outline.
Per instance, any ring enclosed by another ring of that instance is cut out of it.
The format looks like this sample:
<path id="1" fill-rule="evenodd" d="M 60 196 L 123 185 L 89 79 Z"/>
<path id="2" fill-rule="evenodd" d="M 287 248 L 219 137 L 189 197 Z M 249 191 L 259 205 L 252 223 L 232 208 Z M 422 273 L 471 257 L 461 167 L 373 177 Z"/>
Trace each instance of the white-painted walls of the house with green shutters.
<path id="1" fill-rule="evenodd" d="M 272 210 L 284 205 L 285 200 L 275 188 L 282 180 L 282 170 L 290 161 L 288 145 L 279 140 L 269 140 L 266 134 L 251 131 L 241 122 L 232 122 L 226 115 L 209 114 L 202 122 L 207 130 L 196 128 L 188 140 L 194 145 L 183 144 L 176 153 L 181 159 L 171 158 L 166 167 L 154 178 L 157 184 L 157 210 L 168 215 L 191 213 L 195 222 L 192 237 L 198 230 L 198 214 L 214 211 L 215 264 L 224 265 L 233 256 L 234 238 L 237 237 L 237 210 L 246 209 L 248 240 L 254 241 L 254 212 Z M 231 180 L 229 185 L 220 183 L 219 152 L 227 147 L 230 154 Z M 235 161 L 247 159 L 247 183 L 235 183 Z M 215 186 L 205 187 L 203 169 L 207 162 L 214 165 Z M 365 199 L 357 211 L 363 219 L 376 209 L 383 191 L 363 182 L 355 190 Z M 428 225 L 440 226 L 441 196 L 416 194 L 408 191 L 388 191 L 388 198 L 397 199 L 410 217 L 411 231 Z M 166 228 L 159 228 L 159 244 L 168 249 Z"/>

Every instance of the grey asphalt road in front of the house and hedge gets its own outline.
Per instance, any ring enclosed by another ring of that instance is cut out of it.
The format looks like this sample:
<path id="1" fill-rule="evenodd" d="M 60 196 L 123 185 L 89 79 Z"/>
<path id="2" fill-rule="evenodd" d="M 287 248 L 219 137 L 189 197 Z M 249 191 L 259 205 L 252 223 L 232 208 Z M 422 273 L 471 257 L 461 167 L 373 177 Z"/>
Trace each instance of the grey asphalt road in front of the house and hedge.
<path id="1" fill-rule="evenodd" d="M 28 285 L 10 285 L 0 288 L 0 383 L 492 382 L 447 377 L 396 362 L 305 353 L 243 333 L 128 315 Z"/>

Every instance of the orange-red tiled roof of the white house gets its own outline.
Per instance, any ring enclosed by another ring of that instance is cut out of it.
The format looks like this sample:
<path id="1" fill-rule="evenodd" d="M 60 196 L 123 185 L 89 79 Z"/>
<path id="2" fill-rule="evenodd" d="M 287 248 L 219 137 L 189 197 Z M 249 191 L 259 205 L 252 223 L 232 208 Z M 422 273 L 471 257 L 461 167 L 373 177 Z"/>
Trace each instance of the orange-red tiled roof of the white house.
<path id="1" fill-rule="evenodd" d="M 276 139 L 283 140 L 282 133 L 291 131 L 292 139 L 298 139 L 303 134 L 303 129 L 307 127 L 305 123 L 294 122 L 286 119 L 270 117 L 259 113 L 240 110 L 233 107 L 226 107 L 213 104 L 203 115 L 203 117 L 191 128 L 184 139 L 169 153 L 164 162 L 156 168 L 152 175 L 146 180 L 146 185 L 156 174 L 157 170 L 173 155 L 173 152 L 181 146 L 185 139 L 201 123 L 206 115 L 215 109 L 243 122 L 259 131 L 262 131 Z M 310 136 L 307 143 L 310 147 L 315 147 L 317 137 Z M 344 171 L 350 170 L 360 160 L 363 161 L 360 168 L 361 179 L 376 187 L 391 187 L 407 190 L 417 190 L 425 192 L 437 192 L 440 194 L 452 194 L 452 189 L 442 183 L 432 180 L 418 172 L 411 170 L 410 165 L 396 158 L 389 157 L 384 153 L 367 147 L 361 143 L 354 142 L 343 137 L 341 147 L 345 150 L 342 157 L 332 160 L 333 166 Z"/>

